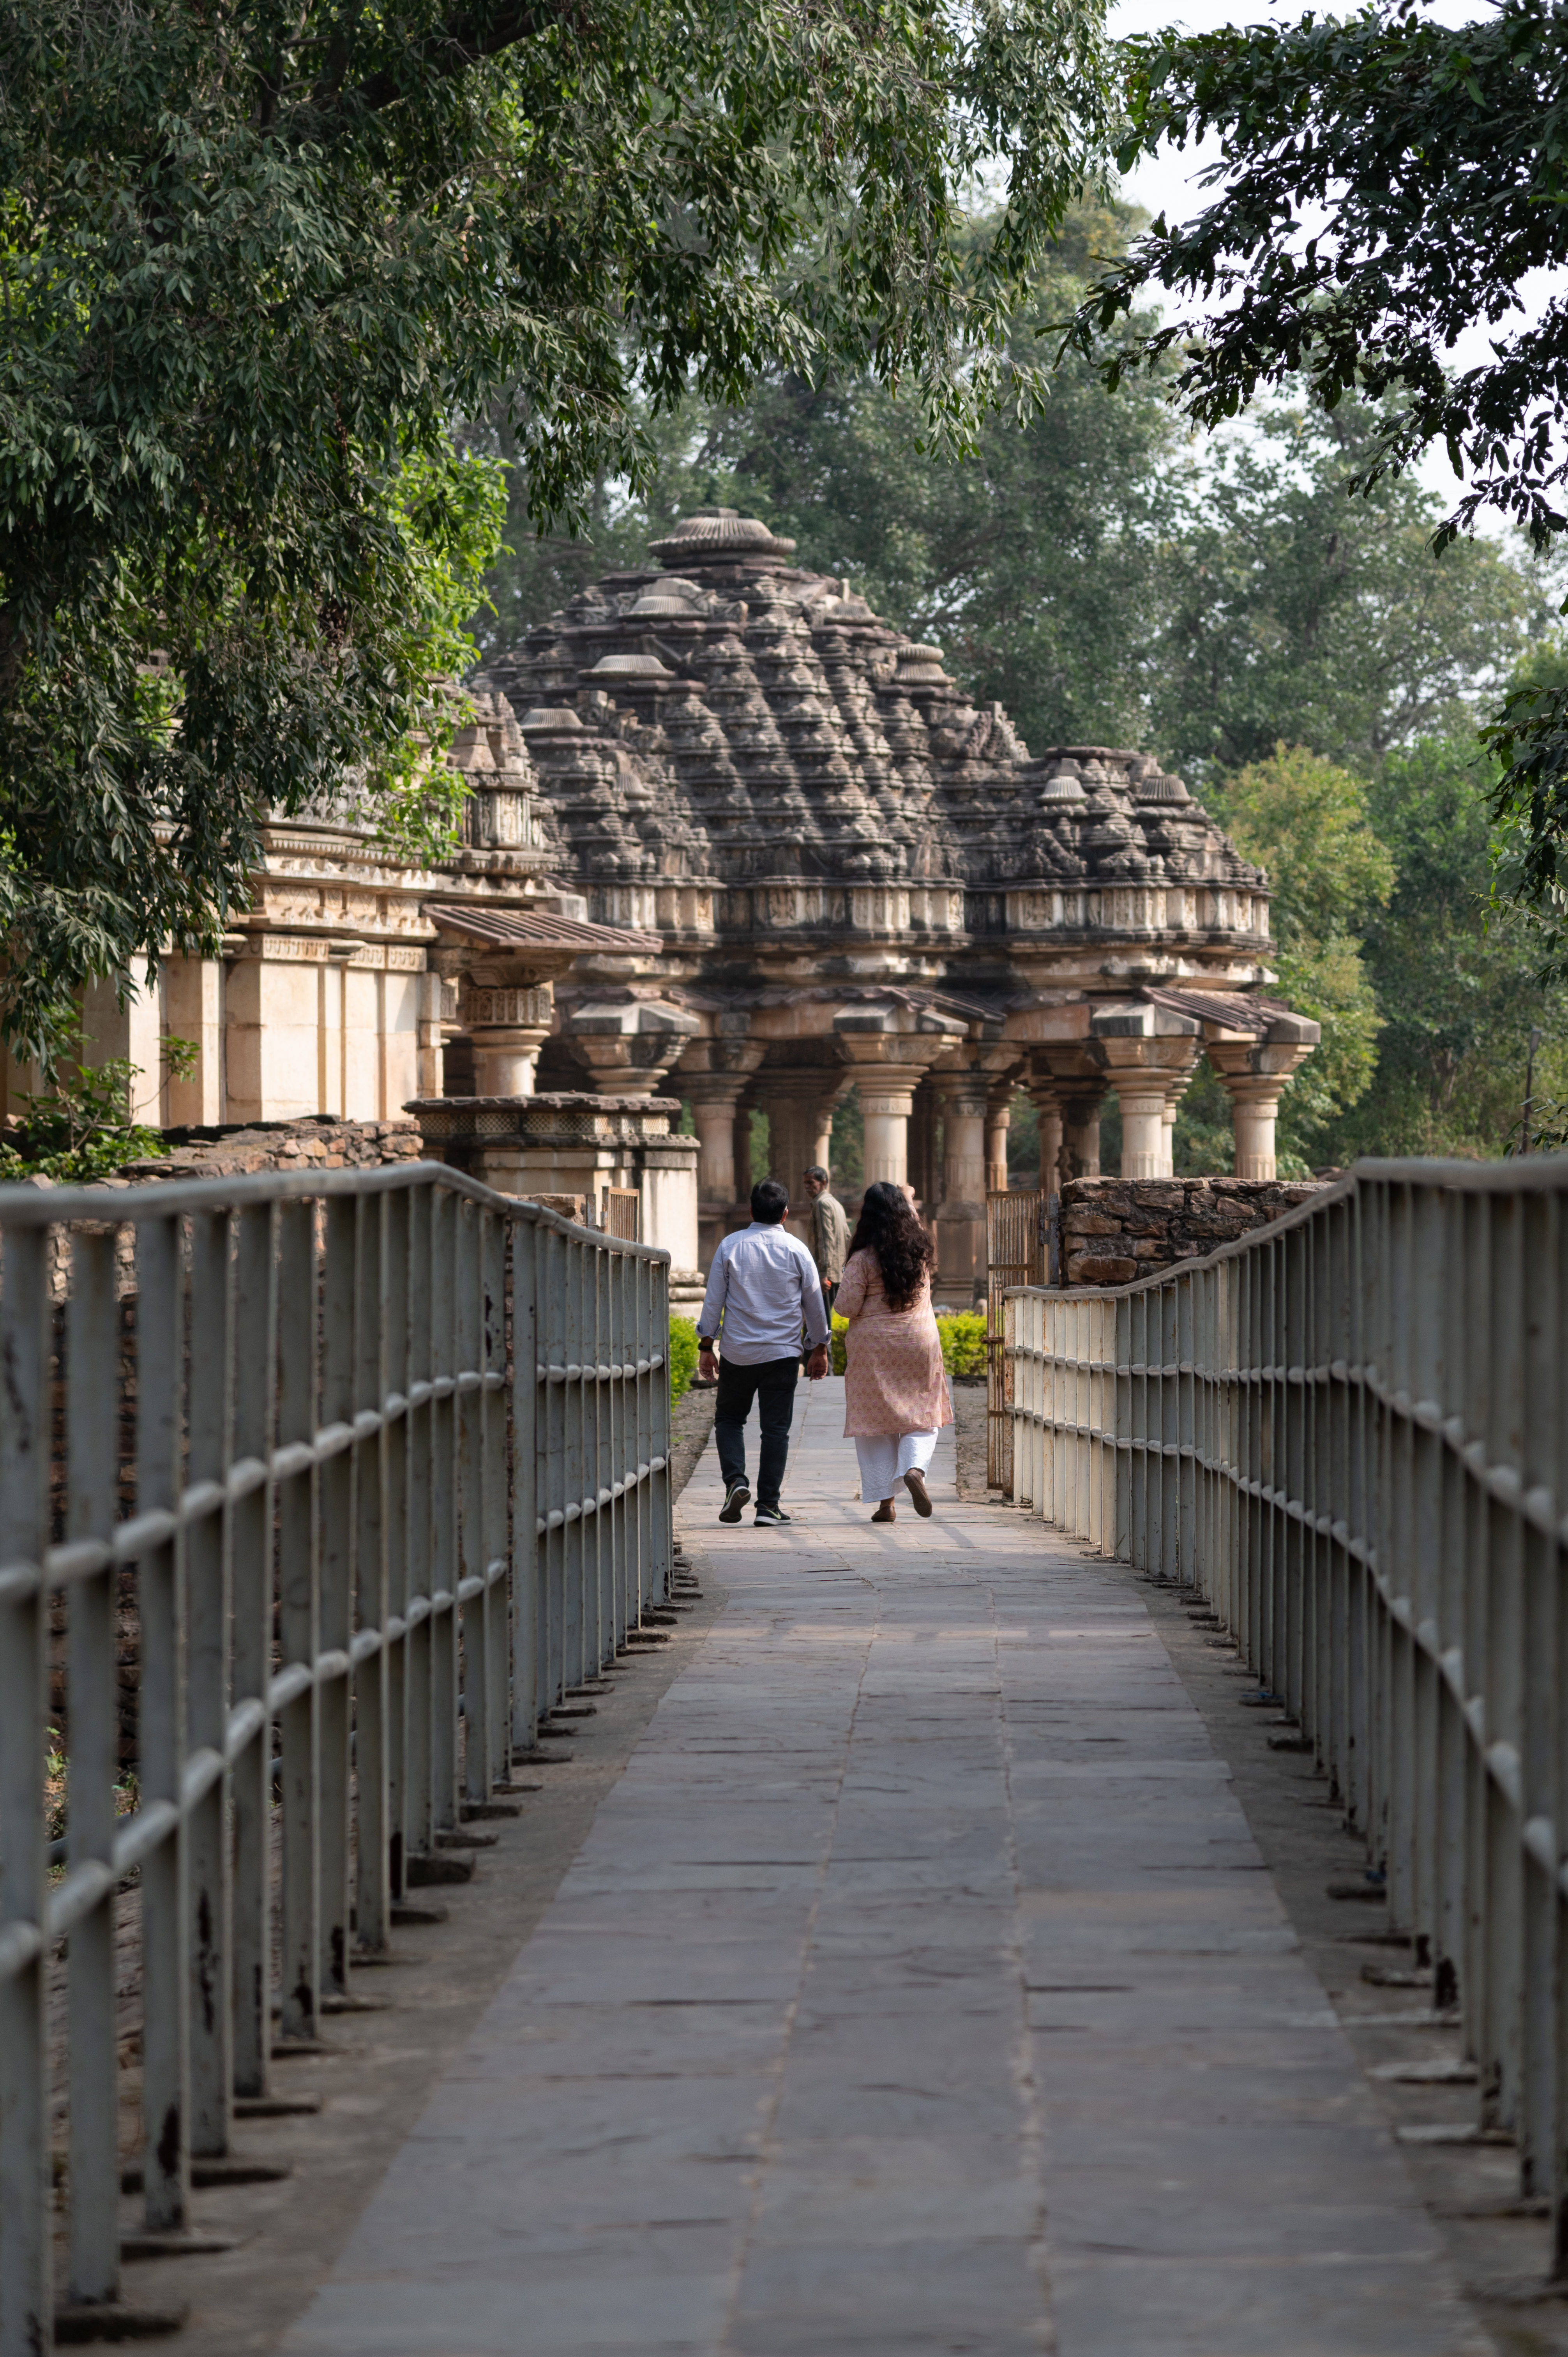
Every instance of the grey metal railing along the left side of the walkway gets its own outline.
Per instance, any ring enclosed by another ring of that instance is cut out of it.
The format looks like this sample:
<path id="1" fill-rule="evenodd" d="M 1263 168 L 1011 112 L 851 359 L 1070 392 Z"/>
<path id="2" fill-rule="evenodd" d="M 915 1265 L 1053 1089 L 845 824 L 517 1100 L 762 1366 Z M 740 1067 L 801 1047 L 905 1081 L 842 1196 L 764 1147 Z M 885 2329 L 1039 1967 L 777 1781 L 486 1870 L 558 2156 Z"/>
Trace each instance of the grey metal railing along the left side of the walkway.
<path id="1" fill-rule="evenodd" d="M 118 2298 L 127 1886 L 179 2237 L 274 2041 L 667 1596 L 670 1256 L 441 1164 L 7 1188 L 0 1244 L 0 2357 L 38 2357 L 57 2267 Z"/>

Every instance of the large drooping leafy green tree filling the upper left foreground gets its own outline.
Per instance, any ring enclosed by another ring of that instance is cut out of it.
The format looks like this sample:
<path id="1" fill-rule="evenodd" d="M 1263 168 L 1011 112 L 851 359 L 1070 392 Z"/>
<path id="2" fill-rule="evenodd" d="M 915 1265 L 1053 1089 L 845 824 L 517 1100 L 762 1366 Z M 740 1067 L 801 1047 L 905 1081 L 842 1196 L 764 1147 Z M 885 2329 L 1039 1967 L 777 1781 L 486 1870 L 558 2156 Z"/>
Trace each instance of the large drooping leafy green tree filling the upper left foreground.
<path id="1" fill-rule="evenodd" d="M 766 365 L 974 431 L 1099 137 L 1092 0 L 12 0 L 0 14 L 0 1028 L 410 785 L 495 528 Z M 957 193 L 1004 181 L 993 233 Z"/>

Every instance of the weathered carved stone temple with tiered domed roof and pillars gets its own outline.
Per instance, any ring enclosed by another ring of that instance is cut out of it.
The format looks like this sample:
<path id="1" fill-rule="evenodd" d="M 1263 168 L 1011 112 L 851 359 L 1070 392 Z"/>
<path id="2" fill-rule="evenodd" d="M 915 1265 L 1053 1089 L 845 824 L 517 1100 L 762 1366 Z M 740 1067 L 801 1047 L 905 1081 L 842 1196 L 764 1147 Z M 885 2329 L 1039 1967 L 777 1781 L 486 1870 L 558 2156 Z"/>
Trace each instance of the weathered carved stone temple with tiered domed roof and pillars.
<path id="1" fill-rule="evenodd" d="M 1207 1056 L 1236 1174 L 1273 1178 L 1318 1028 L 1269 997 L 1264 872 L 1158 759 L 1026 747 L 938 648 L 792 554 L 696 514 L 495 658 L 439 872 L 351 806 L 271 827 L 224 957 L 167 962 L 130 1037 L 90 1009 L 153 1075 L 144 1115 L 410 1105 L 490 1183 L 592 1216 L 604 1186 L 637 1188 L 644 1235 L 691 1268 L 762 1176 L 752 1108 L 799 1193 L 854 1089 L 865 1178 L 913 1181 L 948 1301 L 983 1277 L 1016 1089 L 1047 1188 L 1099 1171 L 1111 1091 L 1122 1176 L 1158 1178 Z M 198 1039 L 189 1080 L 156 1077 L 160 1028 Z"/>

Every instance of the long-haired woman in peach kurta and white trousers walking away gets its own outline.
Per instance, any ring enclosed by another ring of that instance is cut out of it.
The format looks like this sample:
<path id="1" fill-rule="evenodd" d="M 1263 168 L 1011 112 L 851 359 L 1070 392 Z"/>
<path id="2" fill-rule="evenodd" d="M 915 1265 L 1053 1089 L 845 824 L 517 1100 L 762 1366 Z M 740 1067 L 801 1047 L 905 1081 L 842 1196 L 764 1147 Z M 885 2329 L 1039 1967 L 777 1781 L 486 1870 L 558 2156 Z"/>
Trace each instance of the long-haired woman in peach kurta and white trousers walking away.
<path id="1" fill-rule="evenodd" d="M 844 1438 L 861 1459 L 861 1497 L 877 1499 L 872 1523 L 894 1523 L 903 1483 L 915 1513 L 931 1511 L 927 1466 L 936 1433 L 953 1424 L 941 1336 L 931 1313 L 936 1252 L 903 1188 L 865 1188 L 849 1240 L 835 1313 L 844 1336 Z"/>

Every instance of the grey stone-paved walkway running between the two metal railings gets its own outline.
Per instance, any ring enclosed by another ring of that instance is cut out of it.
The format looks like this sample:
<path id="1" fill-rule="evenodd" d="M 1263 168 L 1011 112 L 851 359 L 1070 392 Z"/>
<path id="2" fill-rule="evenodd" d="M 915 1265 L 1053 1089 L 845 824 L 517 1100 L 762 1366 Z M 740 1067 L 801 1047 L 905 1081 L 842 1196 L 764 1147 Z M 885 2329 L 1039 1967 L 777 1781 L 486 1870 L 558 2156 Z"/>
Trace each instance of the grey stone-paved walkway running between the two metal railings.
<path id="1" fill-rule="evenodd" d="M 1137 1591 L 839 1431 L 290 2357 L 1485 2357 Z"/>

